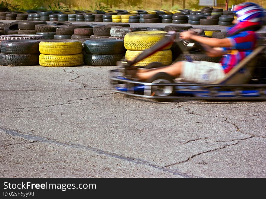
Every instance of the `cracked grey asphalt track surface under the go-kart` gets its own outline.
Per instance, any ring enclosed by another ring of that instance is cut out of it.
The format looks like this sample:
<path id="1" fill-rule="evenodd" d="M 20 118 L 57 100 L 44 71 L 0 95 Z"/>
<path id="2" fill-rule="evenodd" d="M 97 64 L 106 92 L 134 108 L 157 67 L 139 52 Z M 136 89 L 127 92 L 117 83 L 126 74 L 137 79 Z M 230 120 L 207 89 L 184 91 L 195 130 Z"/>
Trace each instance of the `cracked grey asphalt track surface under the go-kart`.
<path id="1" fill-rule="evenodd" d="M 265 101 L 126 97 L 115 68 L 1 66 L 1 177 L 266 177 Z"/>

